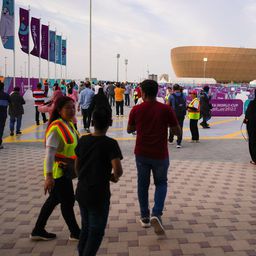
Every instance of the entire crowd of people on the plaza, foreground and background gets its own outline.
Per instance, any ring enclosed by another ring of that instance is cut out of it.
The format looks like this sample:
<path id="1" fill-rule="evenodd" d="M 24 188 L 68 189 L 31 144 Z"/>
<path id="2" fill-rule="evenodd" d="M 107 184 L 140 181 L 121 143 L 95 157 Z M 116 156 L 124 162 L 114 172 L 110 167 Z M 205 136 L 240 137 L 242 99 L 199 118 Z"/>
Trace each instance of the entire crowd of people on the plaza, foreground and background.
<path id="1" fill-rule="evenodd" d="M 211 118 L 211 96 L 205 86 L 198 95 L 190 90 L 189 98 L 183 88 L 175 84 L 167 88 L 165 99 L 158 97 L 158 84 L 145 80 L 135 88 L 130 84 L 106 83 L 92 87 L 87 81 L 80 88 L 72 81 L 53 85 L 48 98 L 48 88 L 39 83 L 33 91 L 35 122 L 47 123 L 45 132 L 44 191 L 49 196 L 43 204 L 35 226 L 32 240 L 51 240 L 56 234 L 46 231 L 47 221 L 54 208 L 60 204 L 62 216 L 68 226 L 70 240 L 78 240 L 80 256 L 96 255 L 104 237 L 110 205 L 110 182 L 118 182 L 123 174 L 121 149 L 116 140 L 106 135 L 112 125 L 112 107 L 116 116 L 124 115 L 124 105 L 134 106 L 129 112 L 127 132 L 136 133 L 134 149 L 137 167 L 137 194 L 140 207 L 140 223 L 144 228 L 153 227 L 158 235 L 165 233 L 161 216 L 168 189 L 170 165 L 168 142 L 177 136 L 177 148 L 182 145 L 182 128 L 188 115 L 191 142 L 199 142 L 198 120 L 204 129 Z M 0 147 L 9 106 L 10 135 L 21 134 L 21 120 L 25 101 L 15 87 L 9 95 L 0 83 Z M 80 137 L 76 110 L 81 111 L 86 135 Z M 46 114 L 48 113 L 48 114 Z M 256 98 L 250 102 L 244 122 L 249 136 L 251 163 L 256 165 Z M 49 120 L 47 118 L 49 115 Z M 91 132 L 90 128 L 94 131 Z M 101 159 L 99 161 L 99 159 Z M 153 208 L 149 207 L 150 176 L 153 174 L 155 195 Z M 78 177 L 74 192 L 72 179 Z M 74 213 L 78 201 L 81 225 Z"/>

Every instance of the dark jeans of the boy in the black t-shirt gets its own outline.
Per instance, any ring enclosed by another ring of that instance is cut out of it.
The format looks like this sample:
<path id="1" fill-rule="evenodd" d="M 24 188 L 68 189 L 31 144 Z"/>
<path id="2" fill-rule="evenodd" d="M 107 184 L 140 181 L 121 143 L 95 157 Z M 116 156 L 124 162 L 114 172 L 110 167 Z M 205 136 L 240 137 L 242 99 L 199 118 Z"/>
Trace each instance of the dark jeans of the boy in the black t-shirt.
<path id="1" fill-rule="evenodd" d="M 79 256 L 96 255 L 108 221 L 109 199 L 99 207 L 79 204 L 81 213 L 81 233 L 78 243 Z"/>

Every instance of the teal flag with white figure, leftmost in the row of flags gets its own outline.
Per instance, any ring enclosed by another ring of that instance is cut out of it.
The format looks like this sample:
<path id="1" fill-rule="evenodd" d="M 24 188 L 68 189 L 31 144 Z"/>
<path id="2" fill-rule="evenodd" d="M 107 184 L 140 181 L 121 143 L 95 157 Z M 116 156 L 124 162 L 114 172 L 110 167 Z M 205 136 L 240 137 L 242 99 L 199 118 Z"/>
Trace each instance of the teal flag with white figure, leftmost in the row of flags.
<path id="1" fill-rule="evenodd" d="M 14 0 L 3 0 L 0 37 L 5 49 L 14 50 Z"/>

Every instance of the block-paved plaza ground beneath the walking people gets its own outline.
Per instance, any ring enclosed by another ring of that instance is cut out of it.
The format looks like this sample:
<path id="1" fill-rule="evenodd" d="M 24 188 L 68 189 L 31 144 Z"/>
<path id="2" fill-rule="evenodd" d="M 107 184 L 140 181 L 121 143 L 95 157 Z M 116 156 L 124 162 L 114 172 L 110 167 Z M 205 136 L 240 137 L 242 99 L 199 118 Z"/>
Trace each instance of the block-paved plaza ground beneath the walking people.
<path id="1" fill-rule="evenodd" d="M 125 119 L 127 115 L 115 120 L 113 129 L 123 131 Z M 138 222 L 134 138 L 110 131 L 119 139 L 125 156 L 124 175 L 119 183 L 111 185 L 110 216 L 98 255 L 256 255 L 256 167 L 249 164 L 247 143 L 239 135 L 241 120 L 228 120 L 216 119 L 213 122 L 222 123 L 207 131 L 200 129 L 201 143 L 189 143 L 187 133 L 182 149 L 169 145 L 172 160 L 163 215 L 165 237 L 157 237 L 151 228 L 143 229 Z M 31 134 L 36 136 L 33 131 Z M 28 239 L 46 198 L 44 149 L 41 138 L 36 143 L 22 138 L 20 143 L 6 141 L 0 152 L 0 255 L 77 255 L 76 242 L 68 241 L 69 232 L 59 207 L 47 225 L 57 239 Z M 153 186 L 150 199 L 152 205 Z M 77 205 L 75 211 L 79 219 Z"/>

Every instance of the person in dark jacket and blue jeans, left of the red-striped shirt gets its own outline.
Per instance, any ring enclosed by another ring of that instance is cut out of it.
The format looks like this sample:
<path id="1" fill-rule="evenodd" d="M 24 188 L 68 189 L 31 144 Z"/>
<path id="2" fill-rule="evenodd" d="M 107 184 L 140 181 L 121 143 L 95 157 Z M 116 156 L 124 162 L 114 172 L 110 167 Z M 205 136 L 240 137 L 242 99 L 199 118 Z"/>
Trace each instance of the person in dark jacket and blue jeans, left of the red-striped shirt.
<path id="1" fill-rule="evenodd" d="M 21 121 L 24 114 L 23 105 L 26 103 L 23 96 L 20 95 L 20 88 L 14 87 L 10 94 L 9 116 L 10 116 L 10 136 L 14 135 L 14 127 L 16 122 L 16 135 L 21 134 Z"/>

